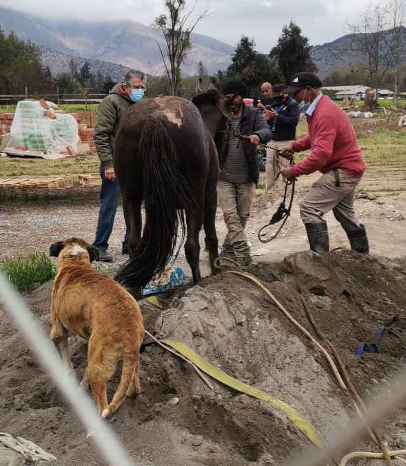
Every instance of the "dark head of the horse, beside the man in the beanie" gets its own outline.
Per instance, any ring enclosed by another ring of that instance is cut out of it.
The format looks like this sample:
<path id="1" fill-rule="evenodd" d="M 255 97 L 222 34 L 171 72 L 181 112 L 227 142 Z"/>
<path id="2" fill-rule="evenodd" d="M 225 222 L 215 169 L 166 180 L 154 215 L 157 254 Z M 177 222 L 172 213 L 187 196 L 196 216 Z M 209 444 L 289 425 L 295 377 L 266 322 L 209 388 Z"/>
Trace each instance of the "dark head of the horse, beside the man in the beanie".
<path id="1" fill-rule="evenodd" d="M 193 97 L 192 102 L 199 109 L 203 123 L 213 139 L 218 139 L 219 132 L 227 128 L 227 109 L 221 94 L 216 89 L 209 89 Z"/>

